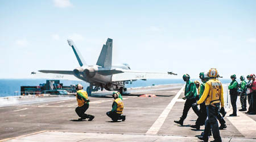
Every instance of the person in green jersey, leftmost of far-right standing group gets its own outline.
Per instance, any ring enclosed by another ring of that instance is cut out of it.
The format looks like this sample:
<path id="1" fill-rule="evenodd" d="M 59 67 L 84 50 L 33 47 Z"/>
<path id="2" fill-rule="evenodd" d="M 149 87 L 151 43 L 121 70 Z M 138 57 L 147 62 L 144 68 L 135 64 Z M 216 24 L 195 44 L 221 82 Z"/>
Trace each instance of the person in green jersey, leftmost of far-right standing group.
<path id="1" fill-rule="evenodd" d="M 230 94 L 230 100 L 233 108 L 233 114 L 230 114 L 229 116 L 237 116 L 237 96 L 238 96 L 238 83 L 236 81 L 236 74 L 233 74 L 230 76 L 232 82 L 229 84 L 229 94 Z"/>

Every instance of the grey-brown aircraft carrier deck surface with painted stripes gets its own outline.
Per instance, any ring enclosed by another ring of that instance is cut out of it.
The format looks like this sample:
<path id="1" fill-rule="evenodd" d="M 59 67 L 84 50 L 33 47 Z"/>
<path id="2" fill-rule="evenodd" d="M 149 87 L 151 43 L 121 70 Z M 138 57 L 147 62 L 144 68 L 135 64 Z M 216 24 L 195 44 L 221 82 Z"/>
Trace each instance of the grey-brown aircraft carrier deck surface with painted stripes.
<path id="1" fill-rule="evenodd" d="M 106 116 L 112 108 L 110 95 L 89 97 L 86 113 L 95 116 L 91 122 L 77 121 L 75 97 L 0 107 L 0 141 L 200 141 L 196 136 L 204 126 L 199 131 L 189 127 L 197 118 L 192 109 L 184 126 L 174 123 L 183 111 L 184 85 L 129 91 L 131 94 L 123 95 L 125 122 L 112 122 Z M 142 94 L 156 97 L 138 97 Z M 241 108 L 239 98 L 237 107 Z M 222 141 L 256 141 L 256 115 L 238 111 L 237 117 L 229 117 L 231 109 L 226 111 L 228 128 L 220 130 Z"/>

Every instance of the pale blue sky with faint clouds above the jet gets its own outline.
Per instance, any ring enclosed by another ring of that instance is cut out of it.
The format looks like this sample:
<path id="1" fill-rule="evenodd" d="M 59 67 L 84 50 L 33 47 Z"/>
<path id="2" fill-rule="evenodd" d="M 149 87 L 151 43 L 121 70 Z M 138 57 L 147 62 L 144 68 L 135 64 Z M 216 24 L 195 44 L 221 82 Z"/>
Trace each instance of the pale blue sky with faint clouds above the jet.
<path id="1" fill-rule="evenodd" d="M 0 78 L 79 66 L 67 39 L 96 64 L 106 39 L 113 63 L 173 71 L 255 73 L 256 1 L 0 1 Z"/>

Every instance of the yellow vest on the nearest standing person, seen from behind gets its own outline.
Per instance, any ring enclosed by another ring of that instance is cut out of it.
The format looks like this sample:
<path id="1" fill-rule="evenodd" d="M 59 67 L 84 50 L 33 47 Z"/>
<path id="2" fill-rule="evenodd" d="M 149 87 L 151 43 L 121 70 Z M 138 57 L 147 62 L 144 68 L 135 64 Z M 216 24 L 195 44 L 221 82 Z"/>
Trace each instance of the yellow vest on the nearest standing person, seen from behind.
<path id="1" fill-rule="evenodd" d="M 221 86 L 222 86 L 221 82 L 218 80 L 209 80 L 206 83 L 210 86 L 210 91 L 205 101 L 205 105 L 220 103 Z"/>

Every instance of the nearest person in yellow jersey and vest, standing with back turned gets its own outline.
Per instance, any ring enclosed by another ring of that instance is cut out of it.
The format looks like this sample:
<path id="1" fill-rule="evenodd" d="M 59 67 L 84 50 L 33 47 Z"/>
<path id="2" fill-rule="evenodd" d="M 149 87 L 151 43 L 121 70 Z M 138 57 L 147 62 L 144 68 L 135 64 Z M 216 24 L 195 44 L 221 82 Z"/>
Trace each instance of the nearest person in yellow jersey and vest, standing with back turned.
<path id="1" fill-rule="evenodd" d="M 199 136 L 200 140 L 208 141 L 208 134 L 210 128 L 212 128 L 212 133 L 214 141 L 221 141 L 220 131 L 218 130 L 217 115 L 220 113 L 220 103 L 221 107 L 224 107 L 224 97 L 223 97 L 223 87 L 221 82 L 217 80 L 218 73 L 217 69 L 210 69 L 208 76 L 210 80 L 205 83 L 204 93 L 193 105 L 199 105 L 205 102 L 207 106 L 207 120 L 205 121 L 204 135 Z"/>

